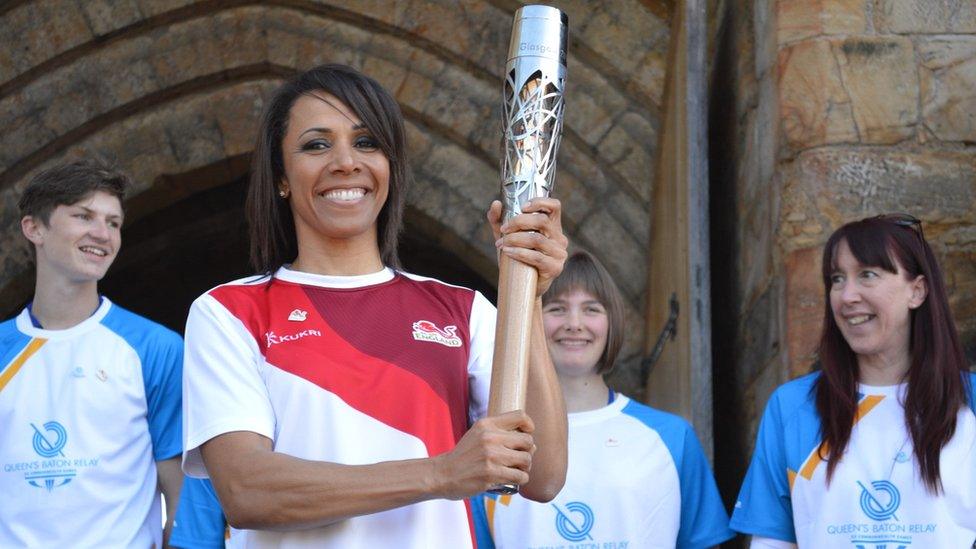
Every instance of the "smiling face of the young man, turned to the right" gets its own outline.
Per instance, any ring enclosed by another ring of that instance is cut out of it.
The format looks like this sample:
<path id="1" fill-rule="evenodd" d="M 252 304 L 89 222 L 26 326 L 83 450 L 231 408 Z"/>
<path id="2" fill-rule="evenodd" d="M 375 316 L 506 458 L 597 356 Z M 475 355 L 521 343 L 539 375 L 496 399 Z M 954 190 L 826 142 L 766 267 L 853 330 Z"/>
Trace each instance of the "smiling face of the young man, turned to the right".
<path id="1" fill-rule="evenodd" d="M 22 227 L 37 251 L 39 277 L 93 283 L 105 276 L 122 245 L 122 204 L 115 195 L 95 191 L 57 206 L 47 224 L 28 216 Z"/>

